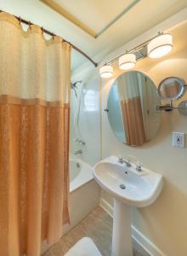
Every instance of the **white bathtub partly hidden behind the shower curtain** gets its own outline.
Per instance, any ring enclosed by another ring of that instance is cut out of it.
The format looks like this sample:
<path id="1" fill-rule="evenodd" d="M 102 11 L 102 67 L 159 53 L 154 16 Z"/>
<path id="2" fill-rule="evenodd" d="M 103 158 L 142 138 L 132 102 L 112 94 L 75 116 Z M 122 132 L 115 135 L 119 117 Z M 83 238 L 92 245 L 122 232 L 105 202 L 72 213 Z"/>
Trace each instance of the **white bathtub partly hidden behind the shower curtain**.
<path id="1" fill-rule="evenodd" d="M 70 158 L 70 215 L 71 224 L 63 226 L 63 235 L 99 206 L 100 189 L 94 181 L 93 168 L 78 159 Z M 46 241 L 42 242 L 42 252 L 48 250 Z"/>

